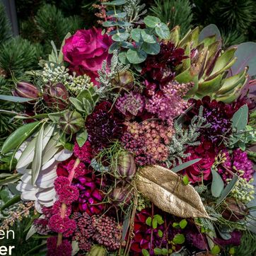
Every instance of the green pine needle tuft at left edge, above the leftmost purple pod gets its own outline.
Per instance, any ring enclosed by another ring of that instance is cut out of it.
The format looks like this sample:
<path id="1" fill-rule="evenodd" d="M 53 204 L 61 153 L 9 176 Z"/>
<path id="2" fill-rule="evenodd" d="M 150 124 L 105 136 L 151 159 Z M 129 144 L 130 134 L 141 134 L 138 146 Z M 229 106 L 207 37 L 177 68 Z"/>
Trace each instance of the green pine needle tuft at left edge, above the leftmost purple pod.
<path id="1" fill-rule="evenodd" d="M 16 78 L 24 76 L 24 72 L 37 66 L 38 48 L 21 37 L 8 40 L 0 46 L 0 69 L 4 69 L 7 77 L 13 74 Z"/>

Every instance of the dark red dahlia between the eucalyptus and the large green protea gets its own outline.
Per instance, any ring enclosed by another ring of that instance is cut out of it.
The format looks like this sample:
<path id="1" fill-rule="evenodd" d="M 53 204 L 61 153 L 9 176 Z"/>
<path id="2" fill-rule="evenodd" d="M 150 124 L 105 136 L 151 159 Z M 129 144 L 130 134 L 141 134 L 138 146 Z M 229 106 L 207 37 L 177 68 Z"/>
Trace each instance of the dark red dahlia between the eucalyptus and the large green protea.
<path id="1" fill-rule="evenodd" d="M 156 81 L 161 85 L 173 80 L 175 66 L 186 59 L 185 51 L 182 48 L 176 48 L 172 42 L 161 44 L 161 50 L 156 55 L 151 55 L 146 59 L 145 66 L 141 74 L 146 75 L 151 81 Z"/>

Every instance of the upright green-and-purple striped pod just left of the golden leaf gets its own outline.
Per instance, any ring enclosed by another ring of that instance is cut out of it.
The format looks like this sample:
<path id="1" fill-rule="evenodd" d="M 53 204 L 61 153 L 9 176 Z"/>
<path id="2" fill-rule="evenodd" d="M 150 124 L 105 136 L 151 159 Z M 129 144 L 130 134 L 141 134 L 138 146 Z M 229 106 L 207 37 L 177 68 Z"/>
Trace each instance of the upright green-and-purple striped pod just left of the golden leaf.
<path id="1" fill-rule="evenodd" d="M 123 180 L 132 180 L 134 174 L 136 173 L 136 165 L 134 162 L 134 157 L 131 153 L 127 151 L 122 151 L 116 158 L 115 172 L 117 178 Z"/>

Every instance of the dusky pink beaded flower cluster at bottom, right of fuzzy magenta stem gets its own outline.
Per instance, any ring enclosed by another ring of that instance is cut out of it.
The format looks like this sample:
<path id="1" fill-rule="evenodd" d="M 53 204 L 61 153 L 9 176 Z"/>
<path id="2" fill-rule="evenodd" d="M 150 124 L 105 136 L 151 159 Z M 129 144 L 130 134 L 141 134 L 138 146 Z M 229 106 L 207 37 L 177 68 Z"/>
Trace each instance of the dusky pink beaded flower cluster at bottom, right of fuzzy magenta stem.
<path id="1" fill-rule="evenodd" d="M 92 243 L 104 245 L 107 250 L 120 248 L 121 228 L 114 218 L 109 216 L 89 216 L 87 213 L 74 214 L 77 230 L 74 240 L 81 250 L 90 250 Z"/>

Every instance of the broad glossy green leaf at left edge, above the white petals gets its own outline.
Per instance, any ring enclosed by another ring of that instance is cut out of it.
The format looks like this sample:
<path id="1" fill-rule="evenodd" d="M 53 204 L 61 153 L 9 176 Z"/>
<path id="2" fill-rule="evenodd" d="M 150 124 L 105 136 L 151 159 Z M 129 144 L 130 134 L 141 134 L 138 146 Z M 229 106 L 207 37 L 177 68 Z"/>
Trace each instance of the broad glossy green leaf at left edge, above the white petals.
<path id="1" fill-rule="evenodd" d="M 41 124 L 40 121 L 30 122 L 29 124 L 24 124 L 22 127 L 19 127 L 14 131 L 6 141 L 4 141 L 4 145 L 2 146 L 1 153 L 8 153 L 12 149 L 16 149 L 20 146 L 23 141 L 28 139 L 28 137 L 33 134 L 35 129 Z"/>

